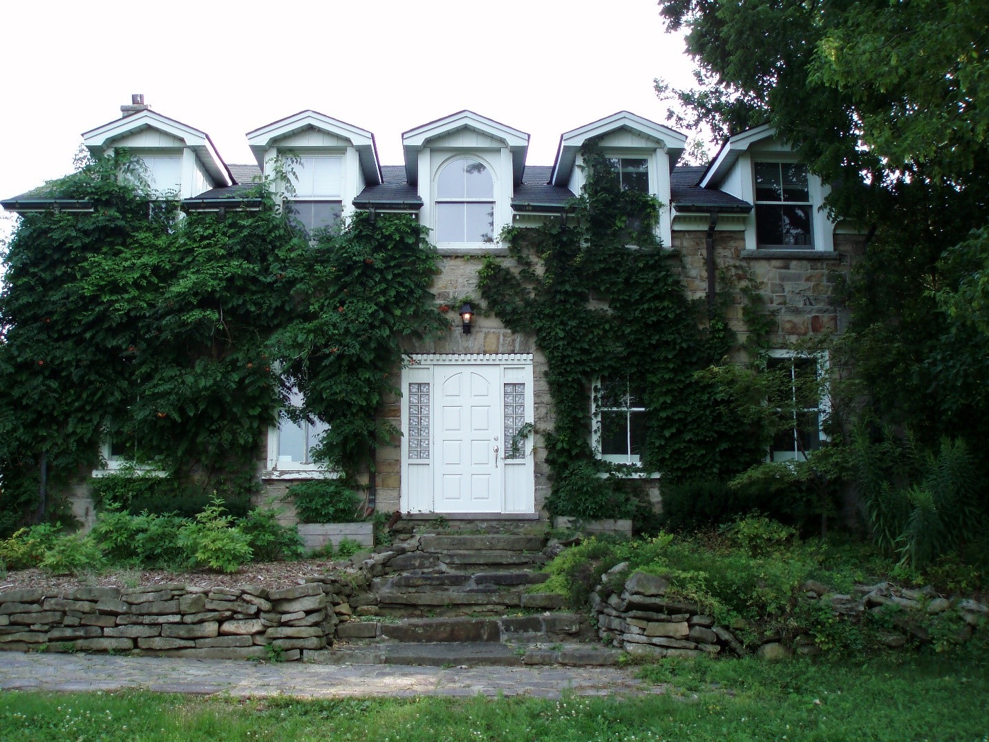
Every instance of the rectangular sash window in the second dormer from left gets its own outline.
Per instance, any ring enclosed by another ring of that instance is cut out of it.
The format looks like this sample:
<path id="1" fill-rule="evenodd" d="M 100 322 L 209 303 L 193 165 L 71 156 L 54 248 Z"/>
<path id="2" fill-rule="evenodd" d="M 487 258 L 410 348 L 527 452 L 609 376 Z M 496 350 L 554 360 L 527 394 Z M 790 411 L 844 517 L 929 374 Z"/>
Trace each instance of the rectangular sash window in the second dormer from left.
<path id="1" fill-rule="evenodd" d="M 343 214 L 343 157 L 297 157 L 287 170 L 295 193 L 285 195 L 286 213 L 308 235 L 335 227 Z"/>

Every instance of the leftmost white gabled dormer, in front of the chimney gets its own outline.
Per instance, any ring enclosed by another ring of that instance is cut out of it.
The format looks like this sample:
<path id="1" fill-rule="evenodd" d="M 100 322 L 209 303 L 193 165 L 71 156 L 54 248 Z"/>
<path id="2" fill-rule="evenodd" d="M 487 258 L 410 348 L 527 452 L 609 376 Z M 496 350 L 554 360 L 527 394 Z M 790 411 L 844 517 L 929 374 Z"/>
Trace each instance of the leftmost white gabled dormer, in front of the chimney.
<path id="1" fill-rule="evenodd" d="M 129 113 L 135 110 L 135 113 Z M 144 105 L 124 106 L 121 119 L 82 135 L 94 157 L 126 147 L 143 160 L 148 185 L 157 193 L 192 198 L 233 183 L 209 135 Z"/>

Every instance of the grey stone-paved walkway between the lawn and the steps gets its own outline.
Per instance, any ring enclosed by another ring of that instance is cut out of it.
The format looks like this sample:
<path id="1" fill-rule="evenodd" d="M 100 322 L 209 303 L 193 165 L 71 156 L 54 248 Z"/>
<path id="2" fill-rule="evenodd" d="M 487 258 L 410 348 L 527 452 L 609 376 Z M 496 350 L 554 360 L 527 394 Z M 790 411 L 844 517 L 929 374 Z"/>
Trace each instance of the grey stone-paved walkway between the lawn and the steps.
<path id="1" fill-rule="evenodd" d="M 267 664 L 241 660 L 0 652 L 0 690 L 119 691 L 309 698 L 662 693 L 624 668 Z"/>

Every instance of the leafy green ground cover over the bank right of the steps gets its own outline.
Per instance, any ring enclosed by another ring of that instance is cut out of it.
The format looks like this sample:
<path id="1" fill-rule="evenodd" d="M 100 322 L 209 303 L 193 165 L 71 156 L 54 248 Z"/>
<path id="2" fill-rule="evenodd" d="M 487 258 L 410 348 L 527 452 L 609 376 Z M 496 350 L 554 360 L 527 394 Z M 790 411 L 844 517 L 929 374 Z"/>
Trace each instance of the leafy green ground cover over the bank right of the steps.
<path id="1" fill-rule="evenodd" d="M 624 568 L 605 577 L 622 564 Z M 664 577 L 668 598 L 697 605 L 718 624 L 732 626 L 753 648 L 766 636 L 787 643 L 809 637 L 818 650 L 850 656 L 882 649 L 894 627 L 905 621 L 926 631 L 940 650 L 971 633 L 953 609 L 918 611 L 908 619 L 902 606 L 885 604 L 880 610 L 854 611 L 851 617 L 838 615 L 830 601 L 806 598 L 808 584 L 842 595 L 853 593 L 856 585 L 891 581 L 907 588 L 931 586 L 942 595 L 962 598 L 985 587 L 984 574 L 956 558 L 927 571 L 914 570 L 867 544 L 801 539 L 794 528 L 762 515 L 691 535 L 587 538 L 560 554 L 546 571 L 550 579 L 540 591 L 563 595 L 576 608 L 588 604 L 602 577 L 610 592 L 620 593 L 628 576 L 642 571 Z M 977 632 L 976 641 L 985 641 L 984 632 Z"/>

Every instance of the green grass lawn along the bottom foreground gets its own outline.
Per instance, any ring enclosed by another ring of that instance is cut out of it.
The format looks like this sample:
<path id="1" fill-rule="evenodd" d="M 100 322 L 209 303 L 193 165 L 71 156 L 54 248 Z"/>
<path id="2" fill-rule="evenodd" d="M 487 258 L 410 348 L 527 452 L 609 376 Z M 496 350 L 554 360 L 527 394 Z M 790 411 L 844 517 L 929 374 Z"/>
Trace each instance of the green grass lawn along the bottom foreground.
<path id="1" fill-rule="evenodd" d="M 644 666 L 663 696 L 563 700 L 239 700 L 147 693 L 0 695 L 2 742 L 989 739 L 984 661 L 910 656 Z"/>

